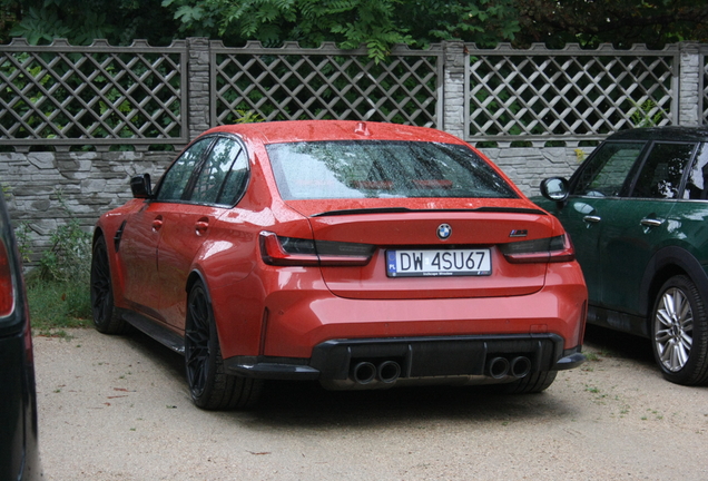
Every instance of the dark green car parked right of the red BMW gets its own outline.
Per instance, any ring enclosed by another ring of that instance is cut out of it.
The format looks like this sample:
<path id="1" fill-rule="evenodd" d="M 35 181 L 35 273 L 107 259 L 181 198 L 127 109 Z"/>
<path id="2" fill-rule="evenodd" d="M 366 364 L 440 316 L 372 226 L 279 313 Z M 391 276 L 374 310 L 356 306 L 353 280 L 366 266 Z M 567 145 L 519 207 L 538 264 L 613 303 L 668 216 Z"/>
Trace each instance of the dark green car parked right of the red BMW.
<path id="1" fill-rule="evenodd" d="M 663 376 L 708 382 L 708 128 L 608 137 L 539 205 L 571 235 L 588 322 L 651 340 Z"/>

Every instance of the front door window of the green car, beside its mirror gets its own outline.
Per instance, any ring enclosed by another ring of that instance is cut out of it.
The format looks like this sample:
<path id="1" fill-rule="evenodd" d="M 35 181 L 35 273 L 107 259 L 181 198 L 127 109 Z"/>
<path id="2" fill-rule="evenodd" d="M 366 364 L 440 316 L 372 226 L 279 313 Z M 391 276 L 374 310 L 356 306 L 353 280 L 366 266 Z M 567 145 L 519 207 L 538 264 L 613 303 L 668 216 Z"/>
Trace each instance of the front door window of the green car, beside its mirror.
<path id="1" fill-rule="evenodd" d="M 641 155 L 646 143 L 606 143 L 600 145 L 579 173 L 573 195 L 619 196 L 627 175 Z"/>

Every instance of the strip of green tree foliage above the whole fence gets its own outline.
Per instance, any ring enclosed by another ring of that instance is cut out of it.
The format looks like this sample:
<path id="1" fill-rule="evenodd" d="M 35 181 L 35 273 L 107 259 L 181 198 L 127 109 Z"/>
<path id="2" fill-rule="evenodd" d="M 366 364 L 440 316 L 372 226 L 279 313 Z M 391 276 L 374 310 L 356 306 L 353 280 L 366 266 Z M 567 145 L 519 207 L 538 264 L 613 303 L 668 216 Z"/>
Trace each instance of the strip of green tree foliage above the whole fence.
<path id="1" fill-rule="evenodd" d="M 114 45 L 147 39 L 208 37 L 240 46 L 298 41 L 316 47 L 366 46 L 382 59 L 394 43 L 424 47 L 459 39 L 492 47 L 544 42 L 616 47 L 708 42 L 705 0 L 0 0 L 0 41 L 106 38 Z"/>

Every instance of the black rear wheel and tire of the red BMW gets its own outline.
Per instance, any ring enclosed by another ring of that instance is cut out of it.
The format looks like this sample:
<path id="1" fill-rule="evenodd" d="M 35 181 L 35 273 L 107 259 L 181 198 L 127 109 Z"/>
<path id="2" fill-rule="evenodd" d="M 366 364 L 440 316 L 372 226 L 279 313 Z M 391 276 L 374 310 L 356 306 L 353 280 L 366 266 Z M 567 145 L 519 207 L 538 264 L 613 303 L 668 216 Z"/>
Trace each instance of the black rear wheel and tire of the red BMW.
<path id="1" fill-rule="evenodd" d="M 250 408 L 263 389 L 263 380 L 224 371 L 212 302 L 200 281 L 191 287 L 187 301 L 185 367 L 191 400 L 204 410 Z"/>

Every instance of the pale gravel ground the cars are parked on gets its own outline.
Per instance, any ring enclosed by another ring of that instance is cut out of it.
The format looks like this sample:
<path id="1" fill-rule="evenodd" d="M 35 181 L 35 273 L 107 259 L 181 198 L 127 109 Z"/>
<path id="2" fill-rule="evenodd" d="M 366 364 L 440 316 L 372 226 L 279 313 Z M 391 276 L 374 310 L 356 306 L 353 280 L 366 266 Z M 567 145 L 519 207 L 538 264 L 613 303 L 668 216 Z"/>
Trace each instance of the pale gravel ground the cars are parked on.
<path id="1" fill-rule="evenodd" d="M 35 338 L 49 480 L 708 479 L 708 389 L 601 330 L 542 394 L 277 383 L 246 412 L 193 406 L 181 359 L 141 334 L 69 334 Z"/>

